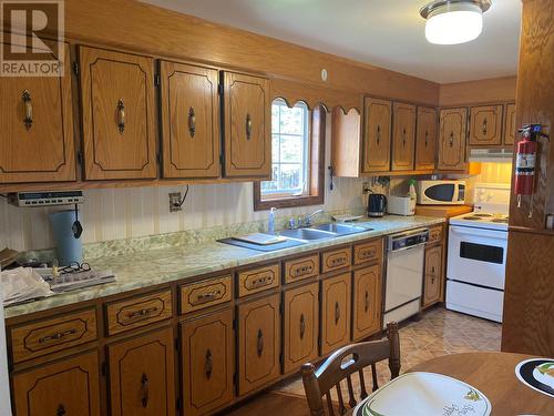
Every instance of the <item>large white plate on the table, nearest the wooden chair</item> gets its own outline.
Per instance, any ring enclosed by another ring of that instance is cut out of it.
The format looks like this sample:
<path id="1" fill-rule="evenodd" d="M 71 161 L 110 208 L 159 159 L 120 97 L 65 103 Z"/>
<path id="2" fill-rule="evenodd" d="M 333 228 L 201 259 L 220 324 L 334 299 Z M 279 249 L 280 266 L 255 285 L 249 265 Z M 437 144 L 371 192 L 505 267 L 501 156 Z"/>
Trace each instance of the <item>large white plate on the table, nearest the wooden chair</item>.
<path id="1" fill-rule="evenodd" d="M 488 416 L 491 402 L 475 387 L 435 373 L 407 373 L 387 383 L 356 416 Z"/>

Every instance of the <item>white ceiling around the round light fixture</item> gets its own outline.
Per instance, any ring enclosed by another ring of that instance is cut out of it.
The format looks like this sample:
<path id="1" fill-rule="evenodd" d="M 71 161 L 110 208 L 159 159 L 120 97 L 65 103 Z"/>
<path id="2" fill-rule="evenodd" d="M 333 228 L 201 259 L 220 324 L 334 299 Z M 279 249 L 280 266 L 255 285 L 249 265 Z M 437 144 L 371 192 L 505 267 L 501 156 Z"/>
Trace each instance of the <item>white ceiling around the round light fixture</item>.
<path id="1" fill-rule="evenodd" d="M 143 0 L 435 82 L 517 70 L 521 0 L 493 0 L 473 42 L 431 44 L 419 9 L 429 0 Z"/>

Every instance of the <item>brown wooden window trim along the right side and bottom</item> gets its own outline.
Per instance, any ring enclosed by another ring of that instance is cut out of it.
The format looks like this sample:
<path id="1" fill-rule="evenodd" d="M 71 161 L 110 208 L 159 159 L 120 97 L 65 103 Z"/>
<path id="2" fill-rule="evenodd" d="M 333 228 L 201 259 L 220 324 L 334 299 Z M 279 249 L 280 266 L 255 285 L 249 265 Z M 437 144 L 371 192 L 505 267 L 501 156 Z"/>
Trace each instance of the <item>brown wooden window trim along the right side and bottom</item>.
<path id="1" fill-rule="evenodd" d="M 267 211 L 271 207 L 294 207 L 322 205 L 325 202 L 325 133 L 326 133 L 326 110 L 318 105 L 311 110 L 311 126 L 309 129 L 310 164 L 308 195 L 285 196 L 280 199 L 261 200 L 260 182 L 254 182 L 254 211 Z"/>

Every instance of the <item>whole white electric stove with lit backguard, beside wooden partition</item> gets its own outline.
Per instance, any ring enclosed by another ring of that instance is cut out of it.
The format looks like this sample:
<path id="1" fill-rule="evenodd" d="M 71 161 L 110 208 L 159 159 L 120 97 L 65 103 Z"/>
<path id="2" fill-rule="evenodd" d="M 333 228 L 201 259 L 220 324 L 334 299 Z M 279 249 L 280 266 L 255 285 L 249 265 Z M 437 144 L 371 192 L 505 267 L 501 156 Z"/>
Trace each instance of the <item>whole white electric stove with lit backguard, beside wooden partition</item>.
<path id="1" fill-rule="evenodd" d="M 475 185 L 474 211 L 450 220 L 447 308 L 502 322 L 510 185 Z"/>

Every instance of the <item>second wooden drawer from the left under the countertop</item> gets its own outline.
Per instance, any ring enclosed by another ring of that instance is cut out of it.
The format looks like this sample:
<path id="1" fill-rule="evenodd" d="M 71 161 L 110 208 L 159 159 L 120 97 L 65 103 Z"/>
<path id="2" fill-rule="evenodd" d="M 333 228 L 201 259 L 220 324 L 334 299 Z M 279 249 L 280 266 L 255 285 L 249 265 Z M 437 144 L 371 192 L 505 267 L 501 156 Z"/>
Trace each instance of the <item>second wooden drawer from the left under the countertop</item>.
<path id="1" fill-rule="evenodd" d="M 107 335 L 168 319 L 172 314 L 171 291 L 114 302 L 106 305 Z"/>

